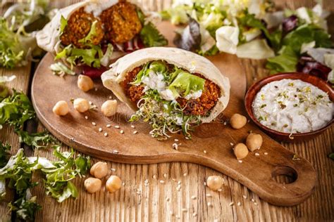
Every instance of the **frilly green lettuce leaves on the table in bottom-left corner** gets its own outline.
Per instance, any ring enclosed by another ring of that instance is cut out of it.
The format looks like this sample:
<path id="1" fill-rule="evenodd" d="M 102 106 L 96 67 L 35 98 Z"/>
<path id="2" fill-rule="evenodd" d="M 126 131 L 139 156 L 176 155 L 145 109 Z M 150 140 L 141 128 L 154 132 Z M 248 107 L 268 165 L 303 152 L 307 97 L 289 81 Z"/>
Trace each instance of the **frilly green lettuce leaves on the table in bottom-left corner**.
<path id="1" fill-rule="evenodd" d="M 0 143 L 0 154 L 10 150 L 9 145 Z M 7 152 L 6 152 L 7 153 Z M 15 211 L 18 218 L 34 221 L 35 212 L 42 207 L 37 204 L 37 197 L 32 197 L 30 190 L 39 183 L 32 181 L 32 174 L 40 170 L 44 174 L 44 187 L 47 195 L 63 202 L 69 197 L 78 197 L 78 190 L 71 182 L 76 176 L 82 177 L 90 167 L 89 157 L 74 157 L 74 151 L 60 152 L 56 146 L 54 156 L 58 161 L 50 161 L 44 157 L 25 157 L 23 149 L 18 150 L 0 169 L 0 197 L 6 195 L 6 181 L 8 188 L 16 190 L 18 199 L 11 202 L 9 207 Z"/>

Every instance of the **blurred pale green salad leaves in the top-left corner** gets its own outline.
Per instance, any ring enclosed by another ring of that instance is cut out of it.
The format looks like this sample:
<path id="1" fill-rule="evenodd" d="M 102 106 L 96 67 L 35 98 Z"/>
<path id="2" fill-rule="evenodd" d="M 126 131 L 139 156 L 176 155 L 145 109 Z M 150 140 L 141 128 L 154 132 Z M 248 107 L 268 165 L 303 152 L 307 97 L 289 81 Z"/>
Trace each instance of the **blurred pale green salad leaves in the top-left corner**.
<path id="1" fill-rule="evenodd" d="M 31 0 L 14 4 L 0 16 L 0 66 L 13 68 L 26 65 L 36 50 L 35 30 L 49 20 L 45 13 L 49 1 Z"/>

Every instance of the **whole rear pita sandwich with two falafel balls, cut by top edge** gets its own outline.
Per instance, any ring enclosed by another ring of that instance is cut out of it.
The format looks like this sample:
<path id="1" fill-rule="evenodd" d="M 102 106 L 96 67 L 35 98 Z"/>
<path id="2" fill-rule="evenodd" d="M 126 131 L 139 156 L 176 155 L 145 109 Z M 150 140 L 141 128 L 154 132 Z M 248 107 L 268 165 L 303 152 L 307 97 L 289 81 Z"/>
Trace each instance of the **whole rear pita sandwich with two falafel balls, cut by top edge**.
<path id="1" fill-rule="evenodd" d="M 154 25 L 160 19 L 158 13 L 144 12 L 133 1 L 82 1 L 61 8 L 37 33 L 37 44 L 71 70 L 80 66 L 87 72 L 92 68 L 104 72 L 125 53 L 166 45 Z"/>

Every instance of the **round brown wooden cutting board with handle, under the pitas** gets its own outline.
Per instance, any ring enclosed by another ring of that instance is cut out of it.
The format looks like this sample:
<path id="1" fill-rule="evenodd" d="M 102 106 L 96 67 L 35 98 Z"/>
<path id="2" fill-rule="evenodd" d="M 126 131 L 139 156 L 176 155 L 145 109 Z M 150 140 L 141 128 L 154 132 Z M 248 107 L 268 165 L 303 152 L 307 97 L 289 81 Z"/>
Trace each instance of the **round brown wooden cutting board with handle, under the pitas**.
<path id="1" fill-rule="evenodd" d="M 163 22 L 159 30 L 172 46 L 175 27 Z M 127 121 L 132 111 L 123 103 L 119 103 L 118 114 L 111 118 L 104 117 L 99 110 L 85 114 L 76 112 L 70 98 L 86 98 L 101 107 L 110 96 L 116 97 L 104 88 L 100 80 L 95 81 L 95 90 L 84 93 L 76 85 L 77 77 L 61 78 L 51 74 L 49 65 L 54 62 L 54 57 L 50 53 L 44 56 L 35 72 L 32 103 L 37 117 L 54 136 L 87 155 L 131 164 L 193 162 L 221 171 L 271 204 L 291 206 L 303 202 L 316 185 L 314 168 L 306 159 L 293 160 L 294 153 L 266 136 L 252 122 L 240 130 L 223 124 L 235 112 L 247 115 L 243 105 L 246 75 L 235 55 L 223 53 L 209 59 L 230 79 L 230 102 L 216 122 L 198 126 L 191 140 L 176 134 L 167 141 L 157 141 L 149 135 L 149 124 L 143 122 L 134 123 L 133 129 Z M 70 104 L 70 113 L 65 117 L 58 117 L 52 112 L 58 100 L 66 100 Z M 97 125 L 94 126 L 92 122 Z M 111 124 L 111 128 L 107 128 L 107 124 Z M 114 126 L 120 126 L 120 129 Z M 124 133 L 121 134 L 120 130 Z M 134 134 L 134 131 L 137 133 Z M 240 163 L 235 159 L 232 148 L 236 143 L 245 142 L 249 131 L 260 133 L 264 143 L 260 150 L 249 152 Z M 108 133 L 108 136 L 104 136 L 104 133 Z M 175 139 L 179 141 L 175 142 Z M 173 143 L 179 144 L 178 150 L 173 149 Z M 273 179 L 278 175 L 291 176 L 295 182 L 278 183 Z"/>

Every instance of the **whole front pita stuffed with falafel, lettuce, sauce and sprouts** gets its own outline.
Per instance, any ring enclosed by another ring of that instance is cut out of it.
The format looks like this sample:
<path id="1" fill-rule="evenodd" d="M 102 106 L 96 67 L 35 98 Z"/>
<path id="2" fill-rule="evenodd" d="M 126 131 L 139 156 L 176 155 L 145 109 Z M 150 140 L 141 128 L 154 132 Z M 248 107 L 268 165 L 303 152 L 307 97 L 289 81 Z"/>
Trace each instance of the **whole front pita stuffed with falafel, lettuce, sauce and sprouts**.
<path id="1" fill-rule="evenodd" d="M 154 137 L 208 123 L 228 105 L 230 81 L 208 59 L 180 48 L 144 48 L 101 75 L 104 86 L 144 119 Z"/>

